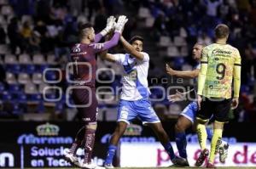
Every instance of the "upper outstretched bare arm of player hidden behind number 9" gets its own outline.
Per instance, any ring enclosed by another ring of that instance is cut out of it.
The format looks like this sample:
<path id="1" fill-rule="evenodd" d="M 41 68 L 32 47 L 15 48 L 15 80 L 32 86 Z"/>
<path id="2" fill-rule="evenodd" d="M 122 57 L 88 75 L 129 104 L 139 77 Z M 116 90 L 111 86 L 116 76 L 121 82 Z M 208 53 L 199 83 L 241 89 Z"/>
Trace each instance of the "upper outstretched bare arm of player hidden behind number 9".
<path id="1" fill-rule="evenodd" d="M 170 76 L 177 76 L 182 78 L 195 78 L 199 75 L 200 69 L 189 70 L 189 71 L 179 71 L 173 70 L 169 65 L 166 64 L 166 72 Z"/>

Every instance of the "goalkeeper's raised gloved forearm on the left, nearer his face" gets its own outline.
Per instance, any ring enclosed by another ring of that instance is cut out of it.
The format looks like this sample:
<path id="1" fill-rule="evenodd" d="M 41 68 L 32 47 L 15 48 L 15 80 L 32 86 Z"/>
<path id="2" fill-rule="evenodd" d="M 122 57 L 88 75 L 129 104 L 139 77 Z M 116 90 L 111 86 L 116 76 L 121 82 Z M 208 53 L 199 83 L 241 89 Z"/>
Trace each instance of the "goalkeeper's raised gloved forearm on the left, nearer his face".
<path id="1" fill-rule="evenodd" d="M 114 26 L 115 26 L 115 18 L 113 16 L 109 16 L 106 27 L 100 33 L 96 34 L 95 42 L 100 42 L 102 37 L 105 37 L 106 35 L 108 35 L 110 31 L 114 29 Z"/>

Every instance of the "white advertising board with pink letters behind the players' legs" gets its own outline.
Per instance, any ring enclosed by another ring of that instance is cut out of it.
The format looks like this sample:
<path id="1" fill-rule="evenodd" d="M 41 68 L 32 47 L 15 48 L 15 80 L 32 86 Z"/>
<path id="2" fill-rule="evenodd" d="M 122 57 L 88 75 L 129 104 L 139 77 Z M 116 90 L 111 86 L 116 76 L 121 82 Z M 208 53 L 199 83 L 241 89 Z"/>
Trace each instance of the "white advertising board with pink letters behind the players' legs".
<path id="1" fill-rule="evenodd" d="M 172 143 L 175 145 L 175 143 Z M 173 146 L 177 153 L 176 146 Z M 188 160 L 190 165 L 195 164 L 201 150 L 199 144 L 188 144 Z M 178 154 L 178 153 L 177 153 Z M 139 159 L 139 162 L 138 162 Z M 160 143 L 120 145 L 120 166 L 154 167 L 171 166 L 172 162 Z M 256 144 L 236 143 L 230 144 L 229 155 L 225 163 L 215 159 L 216 166 L 256 166 Z"/>

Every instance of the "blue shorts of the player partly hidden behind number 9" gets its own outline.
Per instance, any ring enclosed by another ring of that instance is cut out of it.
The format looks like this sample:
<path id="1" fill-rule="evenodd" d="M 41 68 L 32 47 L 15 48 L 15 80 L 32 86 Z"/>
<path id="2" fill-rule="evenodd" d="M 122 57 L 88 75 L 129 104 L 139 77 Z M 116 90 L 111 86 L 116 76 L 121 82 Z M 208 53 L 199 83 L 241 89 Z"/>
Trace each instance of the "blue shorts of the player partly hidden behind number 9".
<path id="1" fill-rule="evenodd" d="M 187 105 L 187 107 L 183 110 L 183 112 L 180 115 L 185 116 L 187 119 L 189 119 L 189 121 L 194 123 L 197 110 L 198 110 L 197 103 L 191 102 L 189 105 Z"/>

